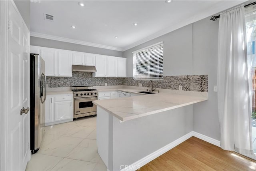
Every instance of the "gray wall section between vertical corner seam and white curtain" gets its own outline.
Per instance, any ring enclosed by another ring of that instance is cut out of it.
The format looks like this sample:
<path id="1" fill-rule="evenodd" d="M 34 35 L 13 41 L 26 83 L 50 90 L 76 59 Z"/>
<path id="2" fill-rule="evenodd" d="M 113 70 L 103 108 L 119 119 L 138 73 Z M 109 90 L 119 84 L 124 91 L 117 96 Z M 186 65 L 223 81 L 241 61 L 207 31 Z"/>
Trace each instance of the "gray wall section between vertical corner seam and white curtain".
<path id="1" fill-rule="evenodd" d="M 205 18 L 193 24 L 193 74 L 208 74 L 208 101 L 194 104 L 194 131 L 220 140 L 217 85 L 218 21 Z"/>

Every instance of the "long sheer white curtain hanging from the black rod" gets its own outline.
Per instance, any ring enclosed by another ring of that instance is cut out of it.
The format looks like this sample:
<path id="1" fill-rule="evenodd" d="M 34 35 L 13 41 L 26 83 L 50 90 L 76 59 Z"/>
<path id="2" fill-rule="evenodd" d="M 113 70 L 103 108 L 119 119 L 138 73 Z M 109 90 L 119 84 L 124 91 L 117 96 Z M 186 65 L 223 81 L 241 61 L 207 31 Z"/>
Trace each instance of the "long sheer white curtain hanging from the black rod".
<path id="1" fill-rule="evenodd" d="M 238 6 L 220 14 L 219 22 L 218 113 L 224 150 L 253 153 L 249 82 L 244 6 Z"/>

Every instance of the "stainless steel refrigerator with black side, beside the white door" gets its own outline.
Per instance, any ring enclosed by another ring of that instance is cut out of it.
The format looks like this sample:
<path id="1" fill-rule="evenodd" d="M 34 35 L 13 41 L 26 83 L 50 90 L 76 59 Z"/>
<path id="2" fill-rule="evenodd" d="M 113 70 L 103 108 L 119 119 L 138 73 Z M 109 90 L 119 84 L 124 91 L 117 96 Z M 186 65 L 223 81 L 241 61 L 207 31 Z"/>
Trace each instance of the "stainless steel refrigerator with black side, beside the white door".
<path id="1" fill-rule="evenodd" d="M 36 153 L 44 135 L 46 76 L 44 60 L 30 54 L 30 149 Z"/>

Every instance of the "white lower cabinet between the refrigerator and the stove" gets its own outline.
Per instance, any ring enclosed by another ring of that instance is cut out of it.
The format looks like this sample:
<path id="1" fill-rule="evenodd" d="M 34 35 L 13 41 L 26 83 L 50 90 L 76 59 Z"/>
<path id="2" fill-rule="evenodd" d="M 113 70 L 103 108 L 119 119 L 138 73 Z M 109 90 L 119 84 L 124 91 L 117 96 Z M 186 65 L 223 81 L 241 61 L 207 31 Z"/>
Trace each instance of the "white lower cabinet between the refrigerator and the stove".
<path id="1" fill-rule="evenodd" d="M 45 126 L 73 121 L 73 94 L 47 95 Z"/>

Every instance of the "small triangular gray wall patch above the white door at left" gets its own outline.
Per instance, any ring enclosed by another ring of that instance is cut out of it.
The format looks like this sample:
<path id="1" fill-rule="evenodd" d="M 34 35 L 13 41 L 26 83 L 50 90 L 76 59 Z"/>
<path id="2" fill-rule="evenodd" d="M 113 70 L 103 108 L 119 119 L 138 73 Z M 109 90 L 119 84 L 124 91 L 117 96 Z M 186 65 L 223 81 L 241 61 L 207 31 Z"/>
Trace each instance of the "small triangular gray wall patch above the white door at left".
<path id="1" fill-rule="evenodd" d="M 30 0 L 15 0 L 14 3 L 25 21 L 28 30 L 30 30 Z"/>

